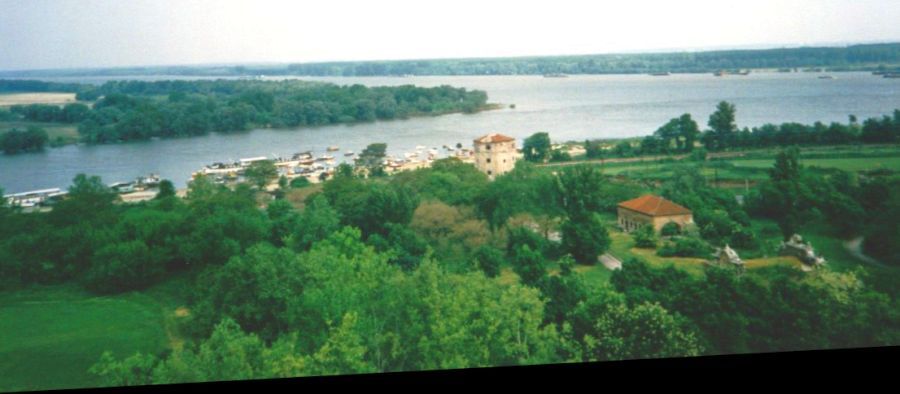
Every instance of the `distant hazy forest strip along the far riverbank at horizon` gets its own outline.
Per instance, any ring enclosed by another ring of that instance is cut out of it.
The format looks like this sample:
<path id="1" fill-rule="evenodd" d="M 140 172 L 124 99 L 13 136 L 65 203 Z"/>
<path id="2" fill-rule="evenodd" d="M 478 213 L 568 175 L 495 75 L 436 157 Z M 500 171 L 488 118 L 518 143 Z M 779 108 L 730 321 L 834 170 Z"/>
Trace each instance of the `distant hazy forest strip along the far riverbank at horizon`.
<path id="1" fill-rule="evenodd" d="M 35 70 L 0 72 L 6 77 L 89 75 L 308 75 L 308 76 L 403 76 L 403 75 L 542 75 L 631 74 L 717 70 L 820 67 L 832 71 L 898 70 L 900 44 L 864 44 L 847 47 L 801 47 L 702 52 L 538 56 L 480 59 L 423 59 L 301 63 L 266 66 L 173 66 L 90 70 Z"/>

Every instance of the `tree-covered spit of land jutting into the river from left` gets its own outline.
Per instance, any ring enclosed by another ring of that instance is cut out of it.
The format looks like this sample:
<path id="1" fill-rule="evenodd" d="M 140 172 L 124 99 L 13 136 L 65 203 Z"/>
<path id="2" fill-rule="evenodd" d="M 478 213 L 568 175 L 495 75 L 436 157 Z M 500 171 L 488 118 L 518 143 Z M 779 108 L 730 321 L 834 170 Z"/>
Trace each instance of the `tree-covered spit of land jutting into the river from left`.
<path id="1" fill-rule="evenodd" d="M 58 89 L 77 93 L 65 106 L 12 106 L 5 118 L 78 124 L 84 142 L 184 137 L 252 127 L 300 127 L 472 113 L 487 94 L 451 86 L 338 86 L 305 81 L 110 81 L 100 86 L 0 81 L 0 90 Z"/>

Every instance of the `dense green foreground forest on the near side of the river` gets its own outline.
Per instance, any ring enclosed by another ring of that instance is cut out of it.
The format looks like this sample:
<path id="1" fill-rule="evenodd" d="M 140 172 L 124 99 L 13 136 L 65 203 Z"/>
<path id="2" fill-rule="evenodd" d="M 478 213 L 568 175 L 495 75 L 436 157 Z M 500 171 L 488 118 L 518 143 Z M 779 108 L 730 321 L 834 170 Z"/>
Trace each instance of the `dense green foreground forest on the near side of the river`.
<path id="1" fill-rule="evenodd" d="M 489 182 L 456 159 L 392 177 L 342 166 L 299 205 L 276 193 L 265 208 L 254 186 L 203 177 L 184 199 L 166 183 L 153 201 L 118 204 L 80 175 L 49 213 L 0 207 L 2 286 L 115 294 L 191 278 L 179 291 L 192 342 L 104 354 L 91 372 L 113 385 L 900 343 L 896 278 L 870 282 L 865 270 L 697 276 L 631 258 L 607 283 L 587 282 L 574 268 L 609 249 L 603 215 L 648 190 L 597 167 L 519 161 Z M 766 253 L 751 221 L 768 217 L 787 232 L 842 228 L 900 206 L 896 177 L 810 172 L 793 150 L 746 205 L 698 171 L 681 164 L 656 189 L 694 210 L 698 230 L 665 241 L 689 255 L 726 243 Z M 554 229 L 561 239 L 547 236 Z"/>

